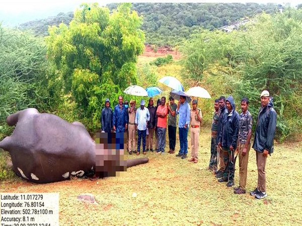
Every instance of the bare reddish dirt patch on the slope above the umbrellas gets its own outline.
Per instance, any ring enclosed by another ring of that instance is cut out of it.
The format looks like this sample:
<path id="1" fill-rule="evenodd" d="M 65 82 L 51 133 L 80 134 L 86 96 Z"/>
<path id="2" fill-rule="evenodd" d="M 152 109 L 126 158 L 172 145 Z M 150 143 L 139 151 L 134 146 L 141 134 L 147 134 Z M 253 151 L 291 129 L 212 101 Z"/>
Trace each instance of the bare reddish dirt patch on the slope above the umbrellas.
<path id="1" fill-rule="evenodd" d="M 152 45 L 146 45 L 142 56 L 145 57 L 166 57 L 168 54 L 172 55 L 174 60 L 180 60 L 181 54 L 179 51 L 173 50 L 170 46 L 162 46 L 154 48 Z"/>

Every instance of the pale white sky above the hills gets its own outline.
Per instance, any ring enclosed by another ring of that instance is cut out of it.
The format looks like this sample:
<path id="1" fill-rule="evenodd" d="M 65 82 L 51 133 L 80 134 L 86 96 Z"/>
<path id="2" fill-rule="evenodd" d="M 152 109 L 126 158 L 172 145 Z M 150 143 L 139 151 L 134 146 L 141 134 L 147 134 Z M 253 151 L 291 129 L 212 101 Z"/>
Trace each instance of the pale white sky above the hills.
<path id="1" fill-rule="evenodd" d="M 0 22 L 3 24 L 10 23 L 16 25 L 18 23 L 24 23 L 26 21 L 43 19 L 49 16 L 56 16 L 58 13 L 67 13 L 79 8 L 81 3 L 95 3 L 98 2 L 100 6 L 105 6 L 109 3 L 121 3 L 121 2 L 140 2 L 140 3 L 276 3 L 285 5 L 290 3 L 290 6 L 294 7 L 302 3 L 302 0 L 140 0 L 140 1 L 127 1 L 127 0 L 0 0 Z"/>

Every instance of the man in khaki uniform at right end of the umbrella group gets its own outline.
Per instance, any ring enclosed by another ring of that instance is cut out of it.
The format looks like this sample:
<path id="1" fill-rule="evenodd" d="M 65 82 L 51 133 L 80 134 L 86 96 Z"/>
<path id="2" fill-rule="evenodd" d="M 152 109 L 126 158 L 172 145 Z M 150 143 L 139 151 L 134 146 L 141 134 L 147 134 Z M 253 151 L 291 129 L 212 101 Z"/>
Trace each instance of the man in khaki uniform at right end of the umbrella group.
<path id="1" fill-rule="evenodd" d="M 190 162 L 198 162 L 198 148 L 199 148 L 199 132 L 200 123 L 202 122 L 201 110 L 197 108 L 197 100 L 194 99 L 192 102 L 192 109 L 190 110 L 191 115 L 191 158 Z"/>

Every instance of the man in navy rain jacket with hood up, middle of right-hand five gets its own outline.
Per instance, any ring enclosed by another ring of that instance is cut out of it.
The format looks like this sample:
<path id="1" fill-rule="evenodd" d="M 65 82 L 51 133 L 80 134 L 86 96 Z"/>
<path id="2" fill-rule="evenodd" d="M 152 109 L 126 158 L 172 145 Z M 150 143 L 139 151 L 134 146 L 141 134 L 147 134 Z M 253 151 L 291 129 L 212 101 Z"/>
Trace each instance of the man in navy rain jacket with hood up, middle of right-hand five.
<path id="1" fill-rule="evenodd" d="M 240 116 L 236 111 L 235 101 L 232 96 L 226 99 L 226 108 L 228 109 L 228 116 L 225 121 L 222 122 L 218 143 L 218 146 L 223 150 L 225 169 L 222 178 L 218 179 L 218 181 L 229 181 L 226 186 L 232 187 L 235 185 L 234 152 L 237 148 L 240 121 Z"/>

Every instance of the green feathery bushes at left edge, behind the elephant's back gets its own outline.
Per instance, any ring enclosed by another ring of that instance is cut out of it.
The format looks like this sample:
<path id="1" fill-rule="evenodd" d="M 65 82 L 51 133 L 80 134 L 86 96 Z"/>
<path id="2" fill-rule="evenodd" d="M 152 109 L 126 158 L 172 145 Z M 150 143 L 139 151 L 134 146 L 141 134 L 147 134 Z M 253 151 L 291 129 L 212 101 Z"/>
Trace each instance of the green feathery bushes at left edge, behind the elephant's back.
<path id="1" fill-rule="evenodd" d="M 47 60 L 43 40 L 31 33 L 0 26 L 0 137 L 11 130 L 6 118 L 18 110 L 49 105 Z"/>

